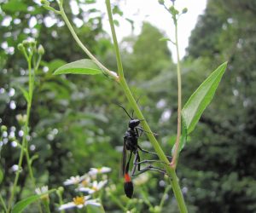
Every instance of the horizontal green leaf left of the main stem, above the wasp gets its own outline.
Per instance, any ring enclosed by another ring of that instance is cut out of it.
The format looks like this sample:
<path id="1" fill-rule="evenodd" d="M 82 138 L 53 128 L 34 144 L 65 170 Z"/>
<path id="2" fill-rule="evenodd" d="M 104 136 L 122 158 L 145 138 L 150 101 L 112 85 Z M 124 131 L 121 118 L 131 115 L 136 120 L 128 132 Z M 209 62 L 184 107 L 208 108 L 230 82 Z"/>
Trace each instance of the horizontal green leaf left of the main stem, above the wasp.
<path id="1" fill-rule="evenodd" d="M 101 74 L 102 70 L 95 62 L 89 59 L 76 60 L 58 68 L 54 75 L 60 74 L 84 74 L 96 75 Z"/>

